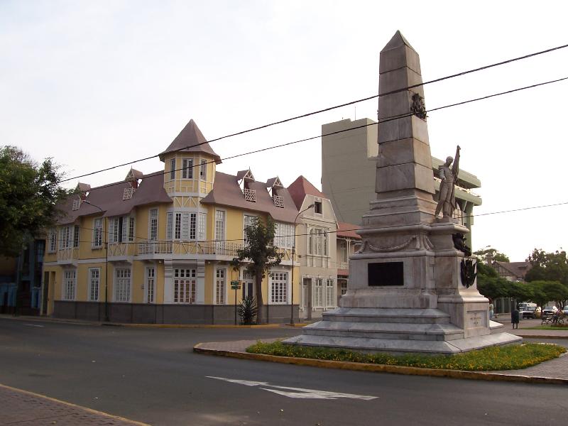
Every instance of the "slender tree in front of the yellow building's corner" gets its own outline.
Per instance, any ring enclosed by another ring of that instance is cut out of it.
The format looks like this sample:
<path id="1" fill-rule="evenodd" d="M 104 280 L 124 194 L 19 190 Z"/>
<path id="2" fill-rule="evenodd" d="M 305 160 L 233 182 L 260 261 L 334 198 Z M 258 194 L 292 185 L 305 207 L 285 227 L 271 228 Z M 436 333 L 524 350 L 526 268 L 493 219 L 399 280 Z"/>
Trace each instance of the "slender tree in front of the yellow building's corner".
<path id="1" fill-rule="evenodd" d="M 256 294 L 256 324 L 263 324 L 264 310 L 262 298 L 262 281 L 265 273 L 270 272 L 273 266 L 279 265 L 283 253 L 273 246 L 275 235 L 275 223 L 269 216 L 264 224 L 258 217 L 253 219 L 253 224 L 244 230 L 246 246 L 237 251 L 238 257 L 231 261 L 231 265 L 239 268 L 246 264 L 246 270 L 255 277 Z"/>

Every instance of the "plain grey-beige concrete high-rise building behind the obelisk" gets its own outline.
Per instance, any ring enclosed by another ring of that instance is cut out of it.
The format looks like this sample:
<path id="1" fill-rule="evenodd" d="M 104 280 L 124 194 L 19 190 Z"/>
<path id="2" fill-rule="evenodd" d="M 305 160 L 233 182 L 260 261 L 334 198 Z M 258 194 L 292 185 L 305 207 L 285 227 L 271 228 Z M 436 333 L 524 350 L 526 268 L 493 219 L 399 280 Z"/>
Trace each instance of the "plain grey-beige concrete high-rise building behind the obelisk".
<path id="1" fill-rule="evenodd" d="M 378 125 L 371 119 L 344 119 L 322 125 L 322 192 L 331 200 L 339 222 L 361 224 L 369 202 L 376 200 L 377 132 Z M 443 163 L 432 157 L 436 191 L 440 182 L 438 168 Z M 465 170 L 459 170 L 458 178 L 454 217 L 469 229 L 466 244 L 471 247 L 471 214 L 474 206 L 481 205 L 481 197 L 471 190 L 480 187 L 481 181 Z"/>

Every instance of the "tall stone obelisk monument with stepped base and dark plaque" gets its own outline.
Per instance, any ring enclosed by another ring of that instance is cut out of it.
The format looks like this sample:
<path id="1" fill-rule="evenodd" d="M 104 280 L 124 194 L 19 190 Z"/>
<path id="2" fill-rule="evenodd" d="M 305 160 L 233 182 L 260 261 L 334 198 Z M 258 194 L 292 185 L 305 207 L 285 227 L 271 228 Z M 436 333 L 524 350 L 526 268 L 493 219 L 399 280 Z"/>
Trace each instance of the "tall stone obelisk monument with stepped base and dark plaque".
<path id="1" fill-rule="evenodd" d="M 469 230 L 435 218 L 434 175 L 420 58 L 400 34 L 381 50 L 377 199 L 363 217 L 361 250 L 337 310 L 285 343 L 393 353 L 455 354 L 519 342 L 498 332 L 479 294 L 474 259 L 452 236 Z"/>

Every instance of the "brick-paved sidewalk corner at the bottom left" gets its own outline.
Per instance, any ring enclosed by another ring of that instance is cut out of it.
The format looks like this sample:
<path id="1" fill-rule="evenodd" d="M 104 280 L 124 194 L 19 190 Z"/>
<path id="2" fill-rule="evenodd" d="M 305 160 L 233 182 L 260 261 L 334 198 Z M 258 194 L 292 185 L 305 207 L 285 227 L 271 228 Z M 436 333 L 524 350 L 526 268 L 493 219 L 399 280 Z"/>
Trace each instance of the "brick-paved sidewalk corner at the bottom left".
<path id="1" fill-rule="evenodd" d="M 0 401 L 3 405 L 0 425 L 148 426 L 146 423 L 135 422 L 4 385 L 0 385 Z"/>

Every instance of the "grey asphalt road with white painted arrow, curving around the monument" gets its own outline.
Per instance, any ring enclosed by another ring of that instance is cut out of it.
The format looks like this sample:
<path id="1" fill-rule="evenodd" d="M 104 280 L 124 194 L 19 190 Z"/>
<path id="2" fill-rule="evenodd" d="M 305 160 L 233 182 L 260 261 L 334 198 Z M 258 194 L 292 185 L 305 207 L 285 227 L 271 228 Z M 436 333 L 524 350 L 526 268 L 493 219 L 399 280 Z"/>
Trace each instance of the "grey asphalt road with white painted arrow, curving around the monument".
<path id="1" fill-rule="evenodd" d="M 562 386 L 341 371 L 192 353 L 198 342 L 297 332 L 0 319 L 0 383 L 153 425 L 519 426 L 558 425 L 568 418 L 568 393 Z"/>

